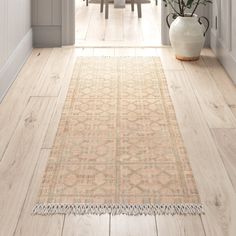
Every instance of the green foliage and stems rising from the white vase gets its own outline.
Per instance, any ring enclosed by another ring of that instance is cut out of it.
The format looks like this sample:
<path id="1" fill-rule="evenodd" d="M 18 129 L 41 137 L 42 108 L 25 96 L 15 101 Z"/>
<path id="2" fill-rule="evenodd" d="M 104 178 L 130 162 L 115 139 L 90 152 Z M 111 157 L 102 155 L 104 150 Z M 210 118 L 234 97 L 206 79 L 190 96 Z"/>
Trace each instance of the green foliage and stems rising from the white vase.
<path id="1" fill-rule="evenodd" d="M 193 16 L 200 5 L 206 6 L 212 3 L 212 0 L 162 0 L 165 6 L 168 5 L 174 10 L 176 16 L 185 16 L 187 11 L 192 11 Z"/>

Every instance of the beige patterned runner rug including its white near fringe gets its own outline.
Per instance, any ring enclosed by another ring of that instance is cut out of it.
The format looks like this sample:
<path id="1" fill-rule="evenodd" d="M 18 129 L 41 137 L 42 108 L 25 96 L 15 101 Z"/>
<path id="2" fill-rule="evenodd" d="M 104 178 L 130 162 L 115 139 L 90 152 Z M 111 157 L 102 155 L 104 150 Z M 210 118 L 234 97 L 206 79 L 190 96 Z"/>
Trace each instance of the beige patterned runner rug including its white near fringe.
<path id="1" fill-rule="evenodd" d="M 201 214 L 159 58 L 78 58 L 35 214 Z"/>

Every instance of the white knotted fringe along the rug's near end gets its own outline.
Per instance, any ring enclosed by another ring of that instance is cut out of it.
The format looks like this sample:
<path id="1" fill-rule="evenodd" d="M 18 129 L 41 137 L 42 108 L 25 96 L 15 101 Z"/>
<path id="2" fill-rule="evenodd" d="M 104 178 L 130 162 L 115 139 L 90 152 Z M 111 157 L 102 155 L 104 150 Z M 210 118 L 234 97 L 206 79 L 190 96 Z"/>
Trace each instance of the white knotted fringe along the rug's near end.
<path id="1" fill-rule="evenodd" d="M 60 204 L 38 203 L 34 215 L 201 215 L 202 204 Z"/>

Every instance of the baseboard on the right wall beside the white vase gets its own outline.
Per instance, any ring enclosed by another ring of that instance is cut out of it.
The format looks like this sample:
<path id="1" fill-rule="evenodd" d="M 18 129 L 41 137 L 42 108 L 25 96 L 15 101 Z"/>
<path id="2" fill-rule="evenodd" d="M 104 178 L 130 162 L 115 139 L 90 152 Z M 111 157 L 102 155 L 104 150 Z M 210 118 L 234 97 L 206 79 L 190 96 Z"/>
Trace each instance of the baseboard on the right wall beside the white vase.
<path id="1" fill-rule="evenodd" d="M 213 30 L 211 31 L 211 48 L 225 68 L 226 72 L 236 84 L 236 59 L 229 50 L 224 48 Z"/>

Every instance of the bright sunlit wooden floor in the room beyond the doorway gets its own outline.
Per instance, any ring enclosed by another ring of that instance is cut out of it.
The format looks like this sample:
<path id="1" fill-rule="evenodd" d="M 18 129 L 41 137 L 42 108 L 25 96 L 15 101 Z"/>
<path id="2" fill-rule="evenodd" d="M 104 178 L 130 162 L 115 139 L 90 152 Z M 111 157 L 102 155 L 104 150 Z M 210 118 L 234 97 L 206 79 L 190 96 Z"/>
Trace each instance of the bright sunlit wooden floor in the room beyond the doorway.
<path id="1" fill-rule="evenodd" d="M 160 2 L 160 0 L 159 0 Z M 142 4 L 142 18 L 137 6 L 124 9 L 109 5 L 109 19 L 100 13 L 100 5 L 76 0 L 76 46 L 134 47 L 161 44 L 161 4 Z"/>

